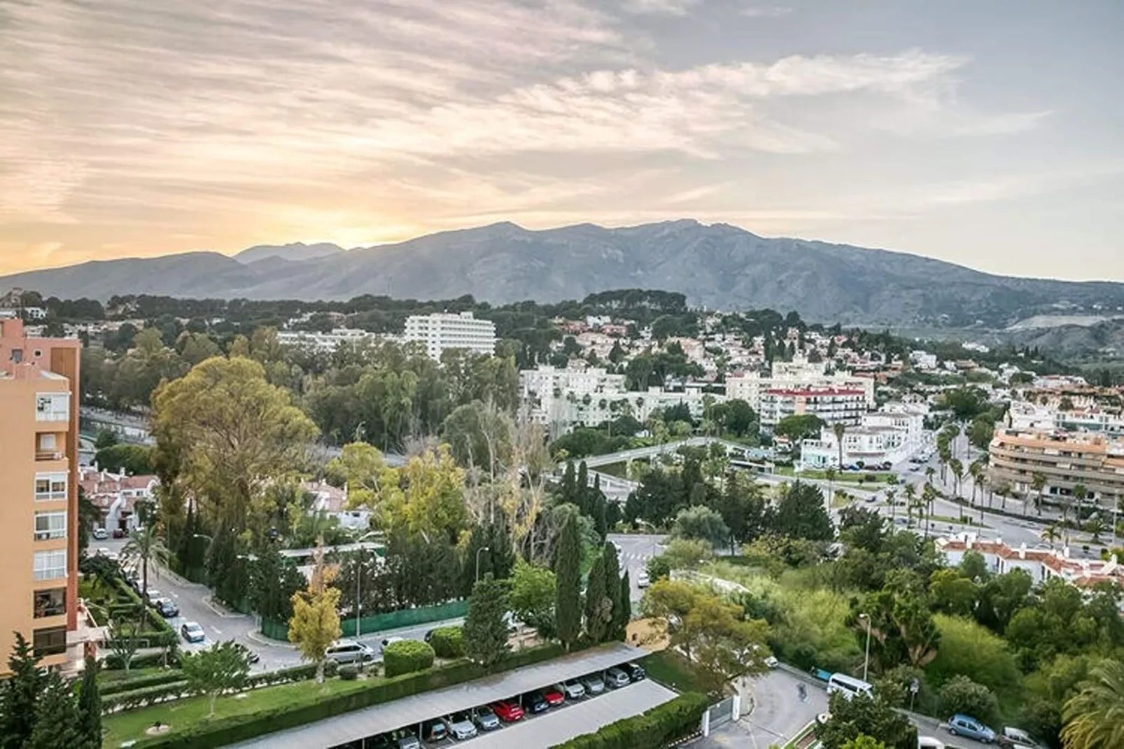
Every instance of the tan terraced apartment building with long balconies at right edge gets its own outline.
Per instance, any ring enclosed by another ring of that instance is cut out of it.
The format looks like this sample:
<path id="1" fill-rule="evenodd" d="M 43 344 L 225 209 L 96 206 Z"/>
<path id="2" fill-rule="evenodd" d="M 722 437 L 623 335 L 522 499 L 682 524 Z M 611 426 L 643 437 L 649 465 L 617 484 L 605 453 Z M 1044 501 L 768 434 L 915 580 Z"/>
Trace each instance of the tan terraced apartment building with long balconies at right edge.
<path id="1" fill-rule="evenodd" d="M 992 486 L 1033 493 L 1034 475 L 1045 477 L 1045 496 L 1072 497 L 1085 487 L 1086 502 L 1112 507 L 1124 497 L 1124 440 L 1081 432 L 996 431 L 988 448 Z"/>

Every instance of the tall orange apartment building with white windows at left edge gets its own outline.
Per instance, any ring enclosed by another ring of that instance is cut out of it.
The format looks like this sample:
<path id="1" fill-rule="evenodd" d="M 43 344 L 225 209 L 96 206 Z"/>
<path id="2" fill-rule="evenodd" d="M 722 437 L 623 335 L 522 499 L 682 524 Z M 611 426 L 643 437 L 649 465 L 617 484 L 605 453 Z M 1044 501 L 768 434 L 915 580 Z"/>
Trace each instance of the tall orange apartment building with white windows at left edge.
<path id="1" fill-rule="evenodd" d="M 21 632 L 44 666 L 81 661 L 88 642 L 78 599 L 76 340 L 28 337 L 0 321 L 0 674 L 11 633 Z"/>

